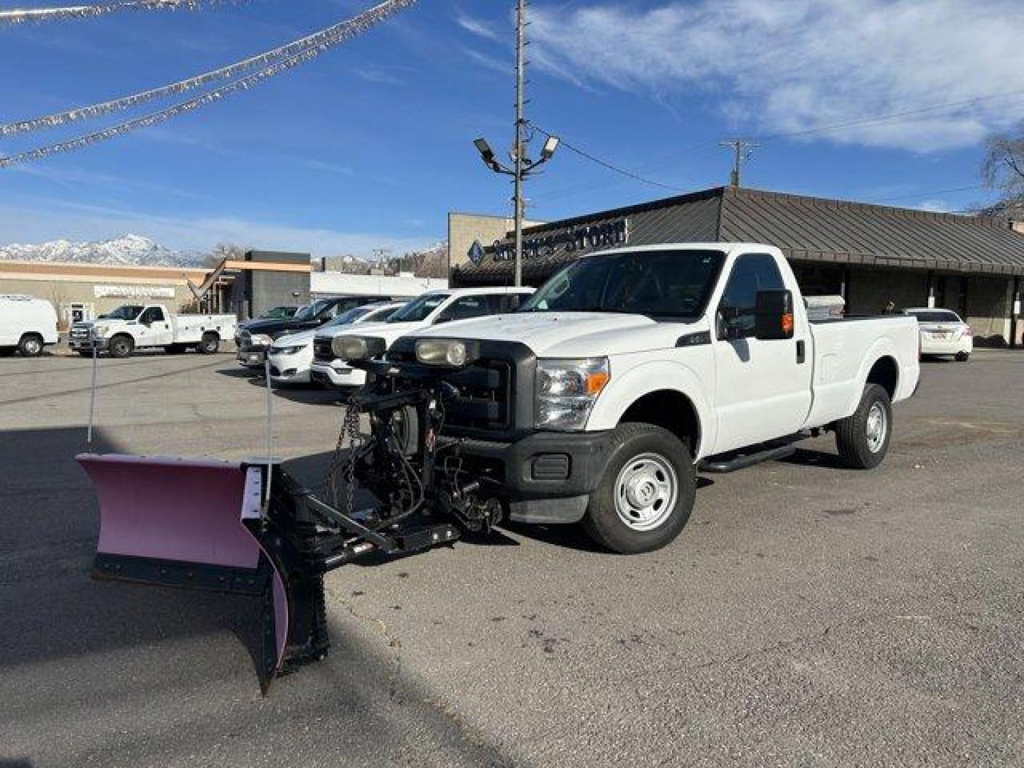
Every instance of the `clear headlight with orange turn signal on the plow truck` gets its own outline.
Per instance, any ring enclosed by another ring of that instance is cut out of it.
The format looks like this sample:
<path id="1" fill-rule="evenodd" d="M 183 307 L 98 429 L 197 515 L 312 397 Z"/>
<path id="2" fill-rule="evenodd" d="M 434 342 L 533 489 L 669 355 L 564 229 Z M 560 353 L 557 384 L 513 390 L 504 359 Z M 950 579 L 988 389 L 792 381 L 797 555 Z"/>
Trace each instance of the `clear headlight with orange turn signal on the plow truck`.
<path id="1" fill-rule="evenodd" d="M 583 429 L 611 378 L 607 357 L 537 361 L 534 422 L 538 429 Z"/>

